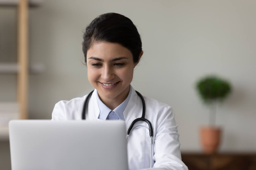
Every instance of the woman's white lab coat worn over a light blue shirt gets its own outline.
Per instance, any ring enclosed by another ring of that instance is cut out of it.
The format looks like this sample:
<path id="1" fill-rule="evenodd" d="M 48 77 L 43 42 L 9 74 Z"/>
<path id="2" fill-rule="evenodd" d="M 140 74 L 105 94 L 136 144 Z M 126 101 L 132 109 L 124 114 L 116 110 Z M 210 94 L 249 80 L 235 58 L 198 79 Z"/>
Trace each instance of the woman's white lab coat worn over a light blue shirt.
<path id="1" fill-rule="evenodd" d="M 142 115 L 142 102 L 135 90 L 124 110 L 126 130 L 132 121 Z M 99 120 L 100 113 L 95 89 L 87 106 L 86 120 Z M 86 96 L 74 98 L 70 101 L 62 100 L 55 104 L 52 120 L 81 120 L 82 110 Z M 144 97 L 144 96 L 143 96 Z M 155 99 L 144 97 L 146 104 L 145 118 L 153 126 L 153 167 L 154 170 L 188 170 L 181 161 L 179 134 L 172 108 Z M 145 128 L 146 127 L 146 128 Z M 128 142 L 129 169 L 150 169 L 150 136 L 146 122 L 139 121 L 134 124 Z"/>

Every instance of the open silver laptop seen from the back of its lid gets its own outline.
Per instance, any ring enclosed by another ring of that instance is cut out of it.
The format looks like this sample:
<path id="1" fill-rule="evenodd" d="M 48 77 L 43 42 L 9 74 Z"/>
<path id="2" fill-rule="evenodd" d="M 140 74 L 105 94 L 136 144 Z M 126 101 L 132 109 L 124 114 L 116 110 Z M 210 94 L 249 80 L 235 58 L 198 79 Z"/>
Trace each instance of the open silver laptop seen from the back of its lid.
<path id="1" fill-rule="evenodd" d="M 13 120 L 12 170 L 128 169 L 124 121 Z"/>

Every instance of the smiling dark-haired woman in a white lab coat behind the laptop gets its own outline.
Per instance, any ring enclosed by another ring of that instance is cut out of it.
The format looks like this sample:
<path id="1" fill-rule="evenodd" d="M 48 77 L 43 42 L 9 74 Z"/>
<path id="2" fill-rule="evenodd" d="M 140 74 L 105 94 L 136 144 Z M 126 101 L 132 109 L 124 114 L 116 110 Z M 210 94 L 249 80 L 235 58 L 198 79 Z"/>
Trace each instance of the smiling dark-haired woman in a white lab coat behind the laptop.
<path id="1" fill-rule="evenodd" d="M 144 99 L 145 119 L 153 131 L 152 158 L 149 124 L 137 121 L 127 139 L 129 169 L 152 166 L 155 170 L 186 170 L 172 108 L 155 99 L 141 98 L 130 85 L 133 69 L 143 55 L 133 22 L 116 13 L 98 16 L 86 28 L 82 49 L 88 80 L 95 90 L 90 97 L 56 103 L 52 120 L 123 120 L 128 130 L 135 119 L 142 117 Z"/>

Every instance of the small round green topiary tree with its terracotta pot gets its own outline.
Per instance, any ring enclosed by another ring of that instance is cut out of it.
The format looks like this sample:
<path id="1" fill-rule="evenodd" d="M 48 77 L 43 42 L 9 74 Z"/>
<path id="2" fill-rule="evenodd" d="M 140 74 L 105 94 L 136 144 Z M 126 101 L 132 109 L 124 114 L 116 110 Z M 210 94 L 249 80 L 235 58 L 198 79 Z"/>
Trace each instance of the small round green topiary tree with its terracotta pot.
<path id="1" fill-rule="evenodd" d="M 204 152 L 214 153 L 217 151 L 221 128 L 216 127 L 216 107 L 217 102 L 223 101 L 231 92 L 231 85 L 228 81 L 222 80 L 216 76 L 207 76 L 196 83 L 196 89 L 210 108 L 209 126 L 200 128 L 201 144 Z"/>

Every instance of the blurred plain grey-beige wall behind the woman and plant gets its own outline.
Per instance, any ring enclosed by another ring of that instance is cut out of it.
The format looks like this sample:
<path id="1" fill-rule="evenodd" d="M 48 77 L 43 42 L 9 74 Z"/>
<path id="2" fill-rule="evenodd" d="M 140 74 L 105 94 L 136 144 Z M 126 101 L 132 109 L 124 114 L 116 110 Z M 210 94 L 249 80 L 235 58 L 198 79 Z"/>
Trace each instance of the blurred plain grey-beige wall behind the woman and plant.
<path id="1" fill-rule="evenodd" d="M 15 63 L 17 7 L 1 6 L 1 1 L 0 63 Z M 35 71 L 28 74 L 27 118 L 51 119 L 56 102 L 93 90 L 83 64 L 83 30 L 98 15 L 116 12 L 130 18 L 142 38 L 144 54 L 131 84 L 173 107 L 182 153 L 202 150 L 199 129 L 209 124 L 210 115 L 195 86 L 207 75 L 232 85 L 216 110 L 216 125 L 222 127 L 219 153 L 255 153 L 255 9 L 254 0 L 40 1 L 28 8 L 28 61 Z M 16 98 L 17 74 L 0 68 L 0 103 Z M 4 137 L 0 169 L 10 169 Z"/>

